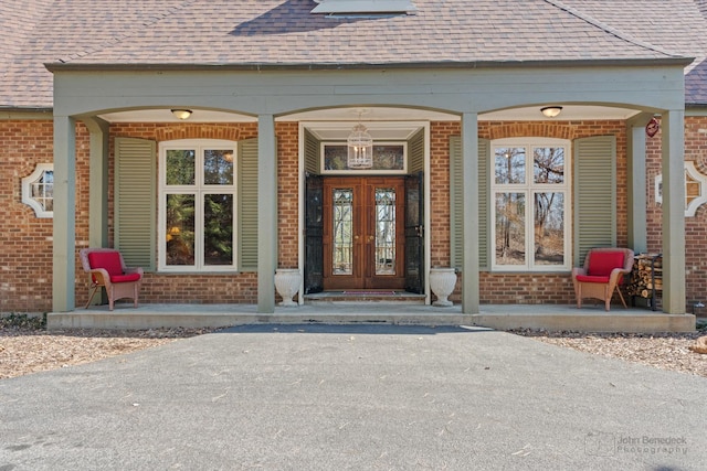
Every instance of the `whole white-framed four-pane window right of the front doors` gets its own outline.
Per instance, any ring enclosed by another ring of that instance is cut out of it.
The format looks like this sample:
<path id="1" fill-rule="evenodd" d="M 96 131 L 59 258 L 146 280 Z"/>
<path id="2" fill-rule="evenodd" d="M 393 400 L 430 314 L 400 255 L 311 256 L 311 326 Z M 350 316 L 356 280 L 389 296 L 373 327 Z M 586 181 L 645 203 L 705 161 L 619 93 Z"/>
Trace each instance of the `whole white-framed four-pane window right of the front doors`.
<path id="1" fill-rule="evenodd" d="M 492 146 L 492 268 L 569 269 L 569 143 L 506 139 Z"/>

